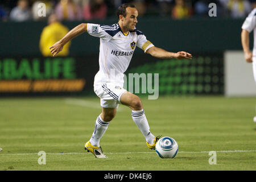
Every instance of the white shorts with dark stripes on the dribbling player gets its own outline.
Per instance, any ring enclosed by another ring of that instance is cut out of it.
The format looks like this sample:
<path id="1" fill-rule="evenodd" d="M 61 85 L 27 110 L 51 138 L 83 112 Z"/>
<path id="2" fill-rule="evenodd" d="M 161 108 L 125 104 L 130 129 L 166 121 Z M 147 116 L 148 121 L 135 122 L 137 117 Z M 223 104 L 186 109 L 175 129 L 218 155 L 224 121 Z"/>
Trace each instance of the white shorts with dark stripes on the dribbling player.
<path id="1" fill-rule="evenodd" d="M 101 98 L 101 107 L 115 109 L 121 104 L 120 98 L 127 90 L 123 89 L 121 84 L 105 82 L 94 85 L 94 92 Z"/>

